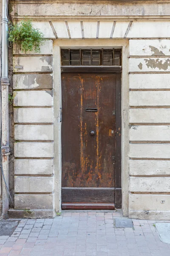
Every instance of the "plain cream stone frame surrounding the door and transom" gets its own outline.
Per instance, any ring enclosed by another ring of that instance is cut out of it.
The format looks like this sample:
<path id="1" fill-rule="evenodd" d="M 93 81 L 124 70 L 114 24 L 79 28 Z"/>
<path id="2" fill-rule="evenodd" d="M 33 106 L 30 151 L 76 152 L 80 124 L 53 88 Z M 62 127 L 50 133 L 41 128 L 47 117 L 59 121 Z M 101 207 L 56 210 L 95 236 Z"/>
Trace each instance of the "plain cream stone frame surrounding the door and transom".
<path id="1" fill-rule="evenodd" d="M 128 40 L 123 39 L 93 39 L 93 40 L 54 40 L 54 204 L 55 211 L 61 211 L 61 48 L 84 49 L 87 47 L 96 48 L 122 48 L 122 210 L 123 215 L 128 216 L 129 196 L 129 87 L 128 87 Z M 121 75 L 120 75 L 121 76 Z"/>

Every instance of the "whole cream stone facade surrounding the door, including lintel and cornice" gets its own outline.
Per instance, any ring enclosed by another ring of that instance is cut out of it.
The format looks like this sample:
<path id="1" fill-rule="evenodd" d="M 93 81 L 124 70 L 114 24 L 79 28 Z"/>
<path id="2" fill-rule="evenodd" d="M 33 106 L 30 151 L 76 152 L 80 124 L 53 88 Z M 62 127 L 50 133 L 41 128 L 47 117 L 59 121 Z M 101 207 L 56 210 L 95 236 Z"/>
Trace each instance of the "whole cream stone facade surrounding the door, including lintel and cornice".
<path id="1" fill-rule="evenodd" d="M 14 67 L 15 209 L 29 209 L 31 198 L 35 212 L 45 209 L 46 216 L 53 216 L 54 210 L 61 210 L 60 48 L 122 47 L 123 213 L 130 218 L 170 218 L 169 7 L 169 1 L 14 3 L 13 19 L 33 17 L 34 27 L 54 42 L 48 40 L 41 55 L 22 55 L 14 48 L 14 66 L 23 65 L 23 70 Z M 21 172 L 23 164 L 27 173 Z"/>

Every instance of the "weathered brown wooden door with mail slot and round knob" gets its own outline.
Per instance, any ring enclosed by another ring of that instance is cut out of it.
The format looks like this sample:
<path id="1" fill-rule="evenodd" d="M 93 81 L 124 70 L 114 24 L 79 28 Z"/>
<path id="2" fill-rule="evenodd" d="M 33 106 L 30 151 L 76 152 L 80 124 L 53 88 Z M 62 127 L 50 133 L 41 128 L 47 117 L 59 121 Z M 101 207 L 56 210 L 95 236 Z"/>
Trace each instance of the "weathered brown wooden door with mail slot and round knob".
<path id="1" fill-rule="evenodd" d="M 116 73 L 62 73 L 62 209 L 114 209 L 116 187 L 120 207 L 120 85 Z"/>

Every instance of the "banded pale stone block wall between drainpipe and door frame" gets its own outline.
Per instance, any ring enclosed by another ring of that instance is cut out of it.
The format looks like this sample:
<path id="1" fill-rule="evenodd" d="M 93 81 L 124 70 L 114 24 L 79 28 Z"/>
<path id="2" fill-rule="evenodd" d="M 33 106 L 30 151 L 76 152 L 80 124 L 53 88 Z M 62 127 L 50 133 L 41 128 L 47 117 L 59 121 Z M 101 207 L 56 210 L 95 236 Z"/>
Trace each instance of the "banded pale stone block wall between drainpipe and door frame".
<path id="1" fill-rule="evenodd" d="M 48 30 L 45 24 L 43 28 Z M 54 215 L 52 52 L 51 40 L 41 54 L 23 54 L 16 47 L 13 52 L 14 201 L 15 209 L 27 210 L 31 218 Z"/>

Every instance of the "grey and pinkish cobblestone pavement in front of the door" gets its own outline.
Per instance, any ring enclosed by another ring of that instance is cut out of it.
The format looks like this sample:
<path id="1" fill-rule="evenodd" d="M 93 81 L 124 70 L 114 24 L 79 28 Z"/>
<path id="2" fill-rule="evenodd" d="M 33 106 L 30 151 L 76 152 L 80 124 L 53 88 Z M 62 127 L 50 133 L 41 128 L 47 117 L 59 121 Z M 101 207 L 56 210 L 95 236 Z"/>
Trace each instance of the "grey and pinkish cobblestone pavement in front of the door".
<path id="1" fill-rule="evenodd" d="M 0 256 L 170 256 L 156 221 L 116 228 L 120 217 L 120 211 L 64 211 L 54 219 L 22 219 L 11 237 L 0 237 Z"/>

